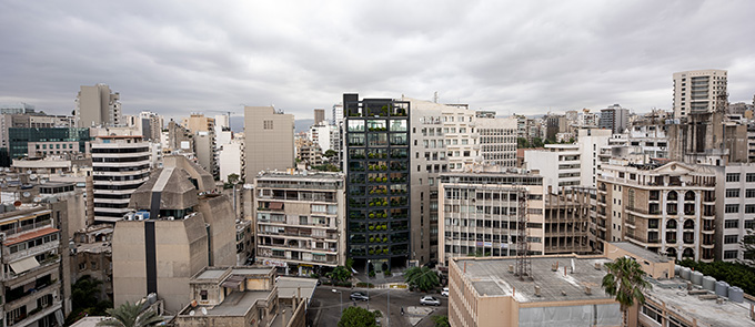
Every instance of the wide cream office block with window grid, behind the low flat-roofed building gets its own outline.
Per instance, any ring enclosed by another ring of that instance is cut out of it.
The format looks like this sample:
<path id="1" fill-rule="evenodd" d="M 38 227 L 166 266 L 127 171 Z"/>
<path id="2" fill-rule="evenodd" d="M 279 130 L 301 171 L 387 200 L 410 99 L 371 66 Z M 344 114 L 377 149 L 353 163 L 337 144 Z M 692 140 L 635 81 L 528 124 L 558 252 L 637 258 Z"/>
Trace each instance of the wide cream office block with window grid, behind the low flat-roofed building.
<path id="1" fill-rule="evenodd" d="M 439 186 L 439 259 L 516 254 L 516 212 L 521 192 L 527 194 L 527 237 L 532 254 L 544 252 L 543 178 L 532 174 L 444 173 Z"/>

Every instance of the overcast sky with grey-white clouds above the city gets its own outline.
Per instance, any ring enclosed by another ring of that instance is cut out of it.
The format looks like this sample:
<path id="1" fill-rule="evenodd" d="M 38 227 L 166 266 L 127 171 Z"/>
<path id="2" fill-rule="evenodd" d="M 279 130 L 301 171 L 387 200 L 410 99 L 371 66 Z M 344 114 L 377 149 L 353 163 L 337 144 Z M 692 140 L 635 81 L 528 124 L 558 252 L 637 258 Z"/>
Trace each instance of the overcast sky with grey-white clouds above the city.
<path id="1" fill-rule="evenodd" d="M 167 117 L 343 93 L 499 115 L 671 110 L 672 74 L 728 70 L 755 94 L 755 1 L 0 1 L 0 103 L 70 113 L 109 84 Z"/>

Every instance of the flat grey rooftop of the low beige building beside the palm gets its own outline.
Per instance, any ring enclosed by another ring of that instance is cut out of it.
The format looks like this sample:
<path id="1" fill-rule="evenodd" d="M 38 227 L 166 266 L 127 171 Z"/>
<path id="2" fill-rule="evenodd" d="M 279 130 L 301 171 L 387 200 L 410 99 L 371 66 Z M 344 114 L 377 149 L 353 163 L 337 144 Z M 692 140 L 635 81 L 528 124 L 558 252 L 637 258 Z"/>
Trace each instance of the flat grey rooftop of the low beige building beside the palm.
<path id="1" fill-rule="evenodd" d="M 532 275 L 534 280 L 520 280 L 509 273 L 509 266 L 516 267 L 516 259 L 511 258 L 459 258 L 455 259 L 465 279 L 472 283 L 480 296 L 514 296 L 519 303 L 586 300 L 611 298 L 601 288 L 605 269 L 595 269 L 611 260 L 603 257 L 572 258 L 572 257 L 533 257 Z M 575 272 L 572 273 L 572 260 Z M 558 264 L 556 272 L 552 265 Z M 564 268 L 567 268 L 564 275 Z M 535 295 L 535 286 L 541 287 L 541 296 Z M 592 288 L 592 294 L 585 294 L 585 286 Z M 514 293 L 514 289 L 516 292 Z M 565 295 L 562 294 L 562 290 Z"/>

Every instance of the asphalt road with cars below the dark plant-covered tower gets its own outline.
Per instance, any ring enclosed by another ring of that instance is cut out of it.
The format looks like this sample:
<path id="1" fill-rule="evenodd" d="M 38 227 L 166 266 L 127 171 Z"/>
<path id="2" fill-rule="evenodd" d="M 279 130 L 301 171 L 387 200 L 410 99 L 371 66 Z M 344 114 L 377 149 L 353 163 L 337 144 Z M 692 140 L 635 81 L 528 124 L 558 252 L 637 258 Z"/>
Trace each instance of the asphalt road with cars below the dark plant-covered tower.
<path id="1" fill-rule="evenodd" d="M 387 289 L 370 289 L 370 302 L 352 302 L 349 296 L 352 292 L 362 292 L 366 294 L 366 288 L 345 288 L 345 287 L 331 287 L 331 286 L 318 286 L 314 290 L 314 296 L 312 298 L 309 317 L 308 319 L 312 321 L 312 326 L 315 327 L 333 327 L 338 326 L 341 319 L 341 294 L 333 293 L 333 289 L 341 292 L 343 295 L 343 308 L 348 306 L 356 306 L 368 308 L 370 310 L 381 310 L 383 317 L 380 318 L 380 326 L 394 326 L 394 327 L 411 327 L 409 323 L 409 315 L 405 314 L 401 316 L 401 308 L 404 309 L 410 306 L 421 306 L 420 297 L 427 295 L 424 293 L 409 292 L 405 289 L 391 289 L 391 319 L 386 319 L 387 315 Z M 441 306 L 432 307 L 433 313 L 430 316 L 447 316 L 449 314 L 449 299 L 440 296 L 439 294 L 432 294 L 435 298 L 441 300 Z M 419 327 L 433 327 L 433 323 L 430 316 L 422 318 L 420 324 L 415 325 Z M 389 325 L 390 324 L 390 325 Z"/>

